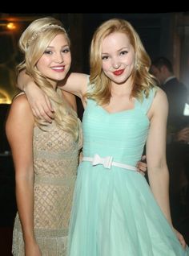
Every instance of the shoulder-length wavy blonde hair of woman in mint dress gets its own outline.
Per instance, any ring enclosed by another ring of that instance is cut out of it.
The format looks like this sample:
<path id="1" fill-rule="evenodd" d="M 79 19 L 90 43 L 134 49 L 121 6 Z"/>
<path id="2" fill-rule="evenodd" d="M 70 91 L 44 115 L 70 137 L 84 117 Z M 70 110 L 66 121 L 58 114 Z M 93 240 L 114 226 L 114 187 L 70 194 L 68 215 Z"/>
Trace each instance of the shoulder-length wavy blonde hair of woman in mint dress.
<path id="1" fill-rule="evenodd" d="M 135 51 L 135 67 L 131 73 L 133 88 L 131 97 L 143 101 L 143 92 L 148 97 L 149 91 L 156 85 L 155 77 L 149 73 L 151 59 L 148 56 L 143 43 L 131 23 L 124 19 L 110 19 L 103 23 L 94 32 L 90 45 L 90 84 L 93 90 L 86 93 L 86 97 L 92 98 L 99 105 L 107 104 L 111 98 L 111 80 L 102 70 L 102 46 L 103 40 L 114 32 L 120 32 L 130 39 Z"/>

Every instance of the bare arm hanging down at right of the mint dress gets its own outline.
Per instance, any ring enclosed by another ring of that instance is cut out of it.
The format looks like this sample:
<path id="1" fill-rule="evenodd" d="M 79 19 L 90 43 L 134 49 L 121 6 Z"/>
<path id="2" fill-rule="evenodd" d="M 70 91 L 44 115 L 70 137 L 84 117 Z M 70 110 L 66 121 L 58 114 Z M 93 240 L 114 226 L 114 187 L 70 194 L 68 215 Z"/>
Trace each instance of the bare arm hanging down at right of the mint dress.
<path id="1" fill-rule="evenodd" d="M 166 160 L 167 114 L 167 96 L 162 89 L 159 89 L 148 113 L 151 126 L 147 138 L 147 170 L 151 191 L 172 227 L 169 203 L 169 171 Z M 185 247 L 186 242 L 183 236 L 177 230 L 175 233 L 181 245 Z"/>

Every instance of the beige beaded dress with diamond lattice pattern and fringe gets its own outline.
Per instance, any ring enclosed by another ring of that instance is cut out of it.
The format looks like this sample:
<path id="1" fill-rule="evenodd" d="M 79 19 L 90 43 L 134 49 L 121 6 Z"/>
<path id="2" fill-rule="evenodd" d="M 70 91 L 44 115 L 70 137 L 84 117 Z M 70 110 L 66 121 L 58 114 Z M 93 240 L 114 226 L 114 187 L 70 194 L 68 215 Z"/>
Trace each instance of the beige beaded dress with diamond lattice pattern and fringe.
<path id="1" fill-rule="evenodd" d="M 53 122 L 47 131 L 34 128 L 34 233 L 42 256 L 66 255 L 66 240 L 74 182 L 78 167 L 80 138 L 74 142 L 72 135 Z M 18 213 L 14 221 L 12 252 L 24 256 L 22 227 Z"/>

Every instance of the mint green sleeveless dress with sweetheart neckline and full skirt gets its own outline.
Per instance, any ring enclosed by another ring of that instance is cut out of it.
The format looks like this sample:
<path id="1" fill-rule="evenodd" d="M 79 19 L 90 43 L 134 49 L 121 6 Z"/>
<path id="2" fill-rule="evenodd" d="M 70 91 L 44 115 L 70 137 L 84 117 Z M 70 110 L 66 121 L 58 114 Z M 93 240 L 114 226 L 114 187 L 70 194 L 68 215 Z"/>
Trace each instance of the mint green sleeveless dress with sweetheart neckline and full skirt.
<path id="1" fill-rule="evenodd" d="M 88 99 L 83 114 L 83 155 L 113 156 L 136 166 L 150 122 L 151 90 L 134 109 L 108 113 Z M 138 171 L 83 161 L 78 166 L 68 256 L 186 256 L 147 180 Z"/>

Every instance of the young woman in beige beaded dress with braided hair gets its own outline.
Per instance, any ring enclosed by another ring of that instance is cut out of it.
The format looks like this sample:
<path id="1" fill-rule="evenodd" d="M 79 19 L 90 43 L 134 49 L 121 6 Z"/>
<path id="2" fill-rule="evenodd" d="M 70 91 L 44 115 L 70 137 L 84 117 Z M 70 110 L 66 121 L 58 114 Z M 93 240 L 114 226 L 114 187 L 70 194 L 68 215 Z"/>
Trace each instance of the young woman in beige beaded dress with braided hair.
<path id="1" fill-rule="evenodd" d="M 77 114 L 57 88 L 70 69 L 70 40 L 62 23 L 42 18 L 22 33 L 19 47 L 25 58 L 18 72 L 26 68 L 50 97 L 54 120 L 47 124 L 34 118 L 24 93 L 10 107 L 6 135 L 14 159 L 18 204 L 12 250 L 17 256 L 65 255 L 82 147 Z"/>

